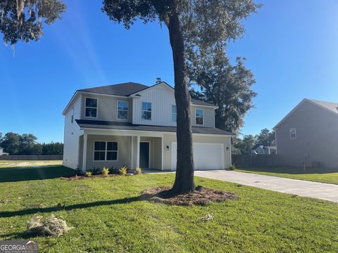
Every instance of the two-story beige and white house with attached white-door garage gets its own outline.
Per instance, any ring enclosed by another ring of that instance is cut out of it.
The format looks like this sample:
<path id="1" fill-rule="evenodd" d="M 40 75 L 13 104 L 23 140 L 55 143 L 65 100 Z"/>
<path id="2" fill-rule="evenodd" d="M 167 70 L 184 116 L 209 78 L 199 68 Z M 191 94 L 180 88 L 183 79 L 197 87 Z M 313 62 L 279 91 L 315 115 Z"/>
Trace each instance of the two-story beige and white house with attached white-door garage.
<path id="1" fill-rule="evenodd" d="M 227 169 L 231 137 L 215 128 L 217 106 L 192 100 L 195 169 Z M 63 164 L 82 171 L 127 165 L 175 170 L 177 157 L 174 89 L 115 84 L 75 92 L 63 111 Z"/>

